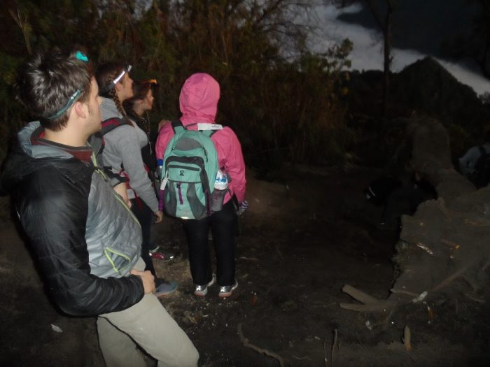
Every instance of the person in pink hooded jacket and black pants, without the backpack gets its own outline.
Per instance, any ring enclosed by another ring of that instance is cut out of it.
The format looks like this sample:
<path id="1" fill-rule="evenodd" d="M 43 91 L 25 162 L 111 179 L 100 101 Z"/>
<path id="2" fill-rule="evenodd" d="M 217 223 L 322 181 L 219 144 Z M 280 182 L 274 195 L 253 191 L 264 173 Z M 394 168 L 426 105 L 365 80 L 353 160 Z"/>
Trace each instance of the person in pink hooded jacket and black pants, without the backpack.
<path id="1" fill-rule="evenodd" d="M 197 129 L 197 123 L 215 124 L 220 98 L 220 85 L 207 73 L 195 73 L 184 82 L 179 97 L 181 122 L 186 129 Z M 156 143 L 157 159 L 162 159 L 170 139 L 174 136 L 172 124 L 165 124 Z M 230 127 L 223 127 L 211 136 L 218 153 L 220 168 L 230 177 L 223 209 L 202 220 L 183 220 L 188 240 L 190 273 L 195 284 L 195 295 L 204 296 L 209 286 L 218 282 L 219 296 L 228 297 L 237 288 L 235 279 L 235 235 L 237 212 L 232 196 L 241 204 L 245 199 L 245 163 L 241 145 Z M 160 200 L 162 208 L 162 200 Z M 211 226 L 216 252 L 216 279 L 211 271 L 208 251 L 208 231 Z"/>

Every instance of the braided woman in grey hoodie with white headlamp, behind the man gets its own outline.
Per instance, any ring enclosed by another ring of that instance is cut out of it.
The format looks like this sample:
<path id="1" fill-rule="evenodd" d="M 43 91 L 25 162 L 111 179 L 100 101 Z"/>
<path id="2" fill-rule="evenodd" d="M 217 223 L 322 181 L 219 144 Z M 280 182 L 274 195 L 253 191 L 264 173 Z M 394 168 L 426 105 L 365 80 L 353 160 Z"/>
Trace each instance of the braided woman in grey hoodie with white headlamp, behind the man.
<path id="1" fill-rule="evenodd" d="M 157 296 L 165 296 L 174 292 L 177 284 L 157 278 L 151 260 L 153 215 L 156 217 L 155 223 L 160 223 L 163 213 L 158 209 L 153 182 L 148 176 L 149 169 L 141 156 L 141 148 L 148 145 L 148 136 L 137 123 L 130 120 L 123 108 L 123 102 L 134 96 L 130 70 L 130 65 L 108 62 L 100 65 L 95 73 L 102 99 L 100 109 L 105 142 L 102 155 L 105 166 L 109 166 L 113 173 L 127 178 L 127 197 L 143 234 L 141 258 L 145 261 L 146 270 L 155 276 Z"/>

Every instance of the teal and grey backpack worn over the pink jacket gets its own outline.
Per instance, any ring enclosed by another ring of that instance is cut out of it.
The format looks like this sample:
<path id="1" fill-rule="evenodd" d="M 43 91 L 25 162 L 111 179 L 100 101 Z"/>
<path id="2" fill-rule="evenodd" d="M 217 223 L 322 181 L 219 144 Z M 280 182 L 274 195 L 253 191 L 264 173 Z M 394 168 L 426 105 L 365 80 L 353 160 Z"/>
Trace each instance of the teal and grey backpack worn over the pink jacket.
<path id="1" fill-rule="evenodd" d="M 216 130 L 188 130 L 172 122 L 174 136 L 163 154 L 162 184 L 167 215 L 200 220 L 211 215 L 211 194 L 218 154 L 211 135 Z"/>

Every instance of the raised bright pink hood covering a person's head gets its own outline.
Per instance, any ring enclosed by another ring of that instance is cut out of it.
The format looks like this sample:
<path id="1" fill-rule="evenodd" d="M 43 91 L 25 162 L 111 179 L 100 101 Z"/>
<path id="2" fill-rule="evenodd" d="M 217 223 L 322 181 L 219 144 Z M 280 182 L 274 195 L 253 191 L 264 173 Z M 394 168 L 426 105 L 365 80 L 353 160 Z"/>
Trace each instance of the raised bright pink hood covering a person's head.
<path id="1" fill-rule="evenodd" d="M 179 96 L 183 124 L 214 124 L 220 99 L 220 85 L 207 73 L 195 73 L 184 82 Z"/>

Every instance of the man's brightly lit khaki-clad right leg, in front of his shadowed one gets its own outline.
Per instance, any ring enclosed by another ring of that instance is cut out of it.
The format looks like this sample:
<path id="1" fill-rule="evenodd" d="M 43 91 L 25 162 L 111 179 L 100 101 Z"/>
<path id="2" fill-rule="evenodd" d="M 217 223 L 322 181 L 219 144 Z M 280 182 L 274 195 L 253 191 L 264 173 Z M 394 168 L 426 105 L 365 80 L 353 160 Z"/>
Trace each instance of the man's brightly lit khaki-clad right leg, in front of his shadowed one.
<path id="1" fill-rule="evenodd" d="M 199 353 L 186 333 L 179 327 L 153 294 L 120 312 L 100 315 L 123 331 L 142 347 L 158 366 L 195 367 Z M 129 362 L 120 367 L 134 366 Z"/>

